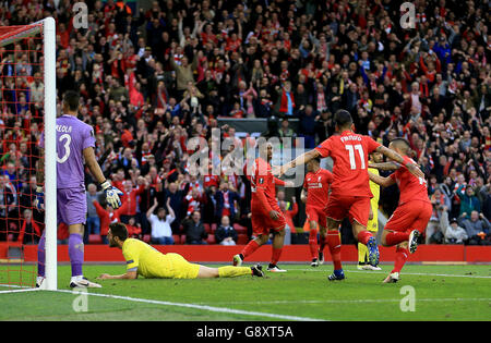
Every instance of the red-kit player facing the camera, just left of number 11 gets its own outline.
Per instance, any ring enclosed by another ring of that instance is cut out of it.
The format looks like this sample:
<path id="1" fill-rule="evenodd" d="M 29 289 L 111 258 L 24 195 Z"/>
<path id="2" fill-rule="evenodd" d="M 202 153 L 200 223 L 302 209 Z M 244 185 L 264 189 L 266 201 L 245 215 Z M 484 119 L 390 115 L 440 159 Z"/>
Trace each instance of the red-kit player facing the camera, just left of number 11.
<path id="1" fill-rule="evenodd" d="M 300 199 L 306 203 L 307 220 L 310 225 L 309 248 L 312 256 L 310 266 L 319 267 L 324 262 L 327 225 L 324 208 L 327 204 L 330 185 L 333 183 L 334 176 L 328 170 L 321 168 L 319 158 L 314 158 L 307 163 L 307 171 Z M 320 246 L 318 246 L 318 231 Z"/>

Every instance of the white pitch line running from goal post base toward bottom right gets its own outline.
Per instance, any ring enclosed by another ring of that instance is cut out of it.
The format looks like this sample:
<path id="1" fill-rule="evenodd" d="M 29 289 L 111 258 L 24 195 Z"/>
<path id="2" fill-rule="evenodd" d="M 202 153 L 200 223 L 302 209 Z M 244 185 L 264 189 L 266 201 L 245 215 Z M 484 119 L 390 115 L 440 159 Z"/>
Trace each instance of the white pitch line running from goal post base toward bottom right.
<path id="1" fill-rule="evenodd" d="M 68 290 L 57 290 L 57 291 L 46 291 L 46 292 L 59 292 L 59 293 L 74 294 L 72 291 L 68 291 Z M 76 294 L 80 294 L 80 293 L 76 293 Z M 325 321 L 324 319 L 318 319 L 318 318 L 286 316 L 286 315 L 268 314 L 268 313 L 258 313 L 258 311 L 249 311 L 249 310 L 233 309 L 233 308 L 227 308 L 227 307 L 215 307 L 215 306 L 208 306 L 208 305 L 171 303 L 171 302 L 164 302 L 164 301 L 153 301 L 153 299 L 144 299 L 144 298 L 137 298 L 137 297 L 130 297 L 130 296 L 111 295 L 111 294 L 98 294 L 98 293 L 88 293 L 88 292 L 84 293 L 84 294 L 93 295 L 93 296 L 99 296 L 99 297 L 113 298 L 113 299 L 128 301 L 128 302 L 146 303 L 146 304 L 164 305 L 164 306 L 177 306 L 177 307 L 195 308 L 195 309 L 201 309 L 201 310 L 208 310 L 208 311 L 212 311 L 212 313 L 224 313 L 224 314 L 246 315 L 246 316 L 260 316 L 260 317 L 267 317 L 267 318 L 274 318 L 274 319 L 285 319 L 285 320 L 295 320 L 295 321 Z"/>

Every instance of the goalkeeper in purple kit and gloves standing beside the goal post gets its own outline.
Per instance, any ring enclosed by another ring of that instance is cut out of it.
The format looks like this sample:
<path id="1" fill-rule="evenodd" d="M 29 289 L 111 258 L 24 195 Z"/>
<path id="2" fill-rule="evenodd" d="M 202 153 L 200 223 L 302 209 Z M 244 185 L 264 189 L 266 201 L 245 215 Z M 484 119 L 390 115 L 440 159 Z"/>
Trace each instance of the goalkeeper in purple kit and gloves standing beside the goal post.
<path id="1" fill-rule="evenodd" d="M 57 207 L 58 223 L 63 222 L 69 226 L 69 256 L 72 266 L 71 287 L 100 287 L 99 284 L 88 281 L 83 277 L 84 262 L 83 232 L 87 212 L 87 203 L 84 184 L 84 161 L 92 175 L 100 184 L 107 203 L 115 209 L 121 206 L 119 194 L 103 174 L 97 163 L 94 147 L 94 130 L 76 118 L 79 112 L 80 96 L 73 90 L 65 91 L 63 96 L 61 117 L 57 118 Z M 44 135 L 40 142 L 40 159 L 36 174 L 37 188 L 34 206 L 38 210 L 44 209 L 45 161 L 44 161 Z M 41 286 L 45 279 L 45 233 L 43 233 L 38 246 L 38 277 L 36 286 Z"/>

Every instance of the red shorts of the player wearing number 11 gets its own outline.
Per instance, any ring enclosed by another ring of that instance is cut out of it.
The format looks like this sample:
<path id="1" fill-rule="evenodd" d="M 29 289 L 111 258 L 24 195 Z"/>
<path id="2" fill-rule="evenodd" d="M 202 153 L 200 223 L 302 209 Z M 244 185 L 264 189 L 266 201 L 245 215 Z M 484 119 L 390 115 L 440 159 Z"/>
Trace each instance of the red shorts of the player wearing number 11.
<path id="1" fill-rule="evenodd" d="M 367 226 L 370 216 L 370 197 L 331 195 L 325 211 L 327 218 L 336 221 L 342 221 L 348 217 L 351 223 L 356 220 L 363 226 Z"/>

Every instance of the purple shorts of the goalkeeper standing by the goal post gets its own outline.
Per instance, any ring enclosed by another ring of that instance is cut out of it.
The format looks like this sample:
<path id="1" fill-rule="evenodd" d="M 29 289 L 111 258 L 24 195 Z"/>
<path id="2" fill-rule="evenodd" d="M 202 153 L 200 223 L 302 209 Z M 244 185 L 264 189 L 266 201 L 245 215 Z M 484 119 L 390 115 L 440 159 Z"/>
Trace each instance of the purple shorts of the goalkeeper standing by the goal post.
<path id="1" fill-rule="evenodd" d="M 87 196 L 84 188 L 62 188 L 57 192 L 58 223 L 85 224 Z"/>

